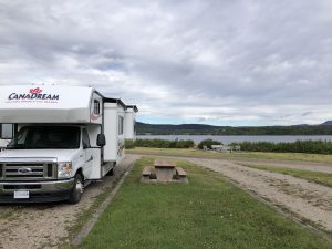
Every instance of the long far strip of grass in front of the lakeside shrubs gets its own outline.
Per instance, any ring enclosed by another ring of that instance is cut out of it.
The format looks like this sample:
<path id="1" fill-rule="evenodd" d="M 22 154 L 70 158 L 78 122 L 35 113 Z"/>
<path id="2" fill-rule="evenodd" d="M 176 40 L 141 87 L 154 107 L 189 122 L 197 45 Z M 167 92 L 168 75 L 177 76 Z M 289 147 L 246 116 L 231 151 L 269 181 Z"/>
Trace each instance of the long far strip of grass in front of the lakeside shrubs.
<path id="1" fill-rule="evenodd" d="M 186 156 L 186 157 L 208 157 L 208 158 L 253 158 L 253 159 L 276 159 L 276 160 L 299 160 L 332 164 L 332 155 L 304 154 L 304 153 L 214 153 L 203 152 L 195 148 L 147 148 L 136 147 L 126 149 L 126 153 L 152 154 L 165 156 Z"/>

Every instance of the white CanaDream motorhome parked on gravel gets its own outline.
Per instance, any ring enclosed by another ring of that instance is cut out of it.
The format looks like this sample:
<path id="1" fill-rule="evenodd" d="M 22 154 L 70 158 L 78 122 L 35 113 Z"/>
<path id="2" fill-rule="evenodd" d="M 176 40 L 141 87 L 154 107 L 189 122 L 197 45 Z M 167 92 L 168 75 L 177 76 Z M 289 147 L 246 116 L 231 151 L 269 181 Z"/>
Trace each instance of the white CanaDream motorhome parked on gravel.
<path id="1" fill-rule="evenodd" d="M 124 158 L 137 111 L 92 87 L 1 86 L 1 141 L 13 137 L 0 153 L 0 203 L 79 203 Z"/>

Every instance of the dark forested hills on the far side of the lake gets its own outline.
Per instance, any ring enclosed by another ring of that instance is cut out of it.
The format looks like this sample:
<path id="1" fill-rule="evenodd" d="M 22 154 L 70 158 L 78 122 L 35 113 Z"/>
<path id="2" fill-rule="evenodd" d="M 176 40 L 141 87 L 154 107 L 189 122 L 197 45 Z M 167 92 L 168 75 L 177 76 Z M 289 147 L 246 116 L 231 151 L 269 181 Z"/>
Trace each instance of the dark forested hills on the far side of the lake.
<path id="1" fill-rule="evenodd" d="M 137 135 L 332 135 L 332 121 L 320 125 L 231 127 L 203 124 L 145 124 L 136 122 Z"/>

